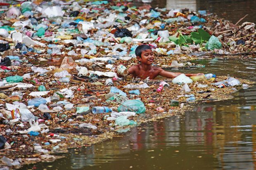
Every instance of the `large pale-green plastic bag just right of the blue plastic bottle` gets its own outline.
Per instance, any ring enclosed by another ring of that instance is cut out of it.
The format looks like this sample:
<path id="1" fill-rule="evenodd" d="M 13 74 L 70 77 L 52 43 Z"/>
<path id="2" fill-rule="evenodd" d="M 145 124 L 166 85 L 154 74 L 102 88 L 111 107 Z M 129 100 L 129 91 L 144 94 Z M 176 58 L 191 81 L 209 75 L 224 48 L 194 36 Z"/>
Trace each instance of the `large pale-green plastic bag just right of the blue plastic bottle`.
<path id="1" fill-rule="evenodd" d="M 127 100 L 118 107 L 118 112 L 135 112 L 137 114 L 146 111 L 145 105 L 140 100 Z"/>

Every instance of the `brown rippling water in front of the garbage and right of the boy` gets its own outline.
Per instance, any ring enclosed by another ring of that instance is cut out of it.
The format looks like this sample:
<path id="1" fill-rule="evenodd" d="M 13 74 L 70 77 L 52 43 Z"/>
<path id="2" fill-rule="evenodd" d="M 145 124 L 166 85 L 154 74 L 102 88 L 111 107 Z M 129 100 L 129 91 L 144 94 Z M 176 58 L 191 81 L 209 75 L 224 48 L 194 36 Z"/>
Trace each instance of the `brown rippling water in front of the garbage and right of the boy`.
<path id="1" fill-rule="evenodd" d="M 206 67 L 193 72 L 214 72 L 256 81 L 256 59 L 194 62 Z M 200 104 L 181 116 L 131 128 L 120 137 L 91 147 L 71 149 L 66 158 L 35 167 L 37 170 L 49 165 L 51 169 L 62 170 L 256 169 L 256 87 L 237 91 L 234 96 L 232 100 Z M 23 169 L 29 168 L 32 167 Z"/>

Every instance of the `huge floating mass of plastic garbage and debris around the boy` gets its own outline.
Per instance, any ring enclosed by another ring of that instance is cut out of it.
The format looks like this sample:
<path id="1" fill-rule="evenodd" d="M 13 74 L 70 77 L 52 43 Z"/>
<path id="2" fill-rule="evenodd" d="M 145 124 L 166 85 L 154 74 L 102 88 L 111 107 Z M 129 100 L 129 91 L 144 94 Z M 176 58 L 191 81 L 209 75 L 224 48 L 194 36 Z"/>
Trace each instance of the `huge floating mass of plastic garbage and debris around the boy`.
<path id="1" fill-rule="evenodd" d="M 0 168 L 54 161 L 68 148 L 179 114 L 194 102 L 228 99 L 251 84 L 211 73 L 119 78 L 115 70 L 137 63 L 141 43 L 152 47 L 154 65 L 169 68 L 193 67 L 189 61 L 205 54 L 247 52 L 253 23 L 105 0 L 14 0 L 1 9 Z"/>

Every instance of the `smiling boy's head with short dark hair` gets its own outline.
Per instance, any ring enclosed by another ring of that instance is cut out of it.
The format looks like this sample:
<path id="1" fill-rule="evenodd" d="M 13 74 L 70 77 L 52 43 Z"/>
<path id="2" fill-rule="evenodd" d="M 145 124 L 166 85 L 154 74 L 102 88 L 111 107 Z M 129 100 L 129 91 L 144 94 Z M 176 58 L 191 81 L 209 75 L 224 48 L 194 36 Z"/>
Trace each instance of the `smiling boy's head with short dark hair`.
<path id="1" fill-rule="evenodd" d="M 135 49 L 137 60 L 142 64 L 151 65 L 154 62 L 154 54 L 148 45 L 140 45 Z"/>

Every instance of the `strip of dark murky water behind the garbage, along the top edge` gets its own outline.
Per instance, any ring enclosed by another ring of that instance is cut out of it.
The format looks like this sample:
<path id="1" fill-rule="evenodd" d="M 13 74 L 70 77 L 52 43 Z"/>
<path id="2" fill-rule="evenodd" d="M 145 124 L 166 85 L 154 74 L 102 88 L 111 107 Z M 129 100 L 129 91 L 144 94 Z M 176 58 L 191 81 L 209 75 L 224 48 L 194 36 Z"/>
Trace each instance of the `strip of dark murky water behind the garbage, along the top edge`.
<path id="1" fill-rule="evenodd" d="M 233 23 L 248 14 L 240 24 L 246 21 L 256 23 L 256 0 L 152 0 L 152 7 L 189 8 L 194 11 L 207 10 Z"/>

